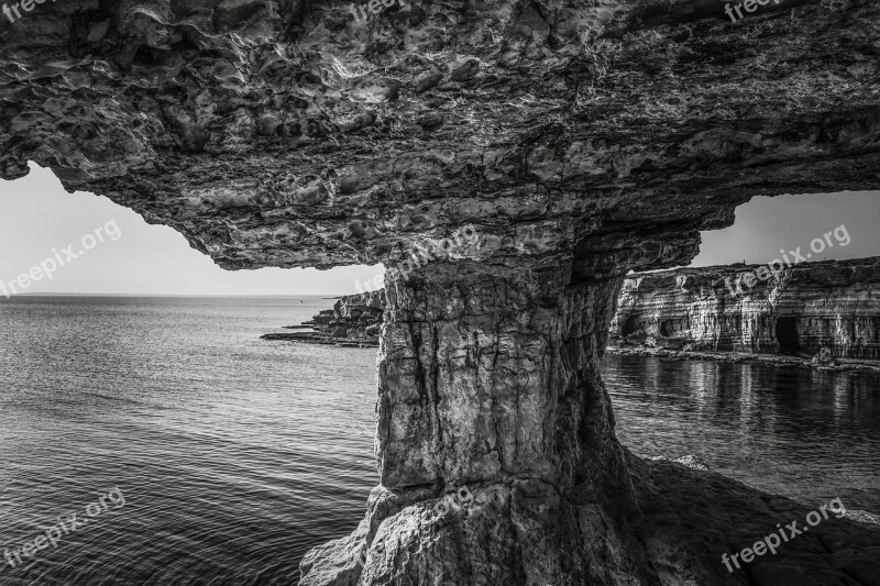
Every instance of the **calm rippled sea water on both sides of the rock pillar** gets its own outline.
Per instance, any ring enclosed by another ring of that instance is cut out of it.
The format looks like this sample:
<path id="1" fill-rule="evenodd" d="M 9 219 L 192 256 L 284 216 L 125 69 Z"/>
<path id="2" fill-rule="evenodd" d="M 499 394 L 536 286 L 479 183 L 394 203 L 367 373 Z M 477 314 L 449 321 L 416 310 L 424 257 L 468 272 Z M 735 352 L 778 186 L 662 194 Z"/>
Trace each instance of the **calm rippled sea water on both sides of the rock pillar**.
<path id="1" fill-rule="evenodd" d="M 0 560 L 0 584 L 296 584 L 378 482 L 375 350 L 258 339 L 331 303 L 0 301 L 0 550 L 59 515 L 89 521 Z M 609 357 L 606 377 L 639 454 L 880 511 L 878 377 L 637 357 Z M 86 517 L 114 487 L 124 505 Z"/>

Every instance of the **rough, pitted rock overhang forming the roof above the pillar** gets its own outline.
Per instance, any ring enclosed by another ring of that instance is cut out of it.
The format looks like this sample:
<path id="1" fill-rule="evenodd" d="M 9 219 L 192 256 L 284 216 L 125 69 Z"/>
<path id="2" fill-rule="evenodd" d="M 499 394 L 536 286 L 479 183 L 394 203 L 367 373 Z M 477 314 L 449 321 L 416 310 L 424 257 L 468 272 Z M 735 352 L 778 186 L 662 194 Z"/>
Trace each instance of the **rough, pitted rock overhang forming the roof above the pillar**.
<path id="1" fill-rule="evenodd" d="M 227 268 L 387 265 L 463 225 L 473 261 L 686 264 L 756 195 L 880 185 L 880 8 L 781 7 L 43 4 L 0 31 L 0 173 Z"/>

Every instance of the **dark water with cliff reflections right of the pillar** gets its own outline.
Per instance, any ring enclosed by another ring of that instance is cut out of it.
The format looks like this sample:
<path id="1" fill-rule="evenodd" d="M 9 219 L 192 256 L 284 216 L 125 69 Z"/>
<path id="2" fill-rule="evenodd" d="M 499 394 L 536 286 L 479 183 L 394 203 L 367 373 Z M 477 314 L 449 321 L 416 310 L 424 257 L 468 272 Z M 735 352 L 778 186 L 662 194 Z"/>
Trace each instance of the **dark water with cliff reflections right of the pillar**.
<path id="1" fill-rule="evenodd" d="M 880 377 L 608 355 L 617 435 L 806 504 L 880 512 Z"/>

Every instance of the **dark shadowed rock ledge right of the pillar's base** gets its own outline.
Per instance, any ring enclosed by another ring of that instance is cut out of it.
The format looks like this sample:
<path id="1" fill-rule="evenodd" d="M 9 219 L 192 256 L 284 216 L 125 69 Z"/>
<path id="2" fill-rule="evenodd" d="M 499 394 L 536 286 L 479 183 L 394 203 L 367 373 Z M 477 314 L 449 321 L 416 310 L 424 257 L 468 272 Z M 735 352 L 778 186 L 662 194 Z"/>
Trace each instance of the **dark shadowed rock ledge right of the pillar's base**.
<path id="1" fill-rule="evenodd" d="M 681 460 L 680 460 L 681 461 Z M 644 522 L 639 535 L 662 584 L 857 586 L 880 584 L 880 526 L 864 511 L 828 512 L 827 502 L 807 505 L 762 494 L 718 474 L 674 462 L 630 456 Z M 826 506 L 815 526 L 807 516 Z M 846 502 L 842 501 L 844 509 Z M 835 504 L 836 506 L 836 504 Z M 839 510 L 839 509 L 838 509 Z M 734 553 L 782 527 L 787 541 L 750 563 Z M 807 529 L 807 531 L 804 531 Z M 682 550 L 686 543 L 689 551 Z M 730 572 L 724 564 L 727 554 Z M 696 563 L 694 563 L 696 560 Z M 736 567 L 739 565 L 739 567 Z"/>

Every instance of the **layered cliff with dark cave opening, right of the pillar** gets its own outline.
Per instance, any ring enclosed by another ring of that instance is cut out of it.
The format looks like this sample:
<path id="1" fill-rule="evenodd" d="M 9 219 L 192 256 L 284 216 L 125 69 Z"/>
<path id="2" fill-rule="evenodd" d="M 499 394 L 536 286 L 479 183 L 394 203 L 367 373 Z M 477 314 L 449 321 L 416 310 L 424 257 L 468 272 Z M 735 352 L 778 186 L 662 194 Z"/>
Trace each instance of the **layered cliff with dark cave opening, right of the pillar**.
<path id="1" fill-rule="evenodd" d="M 682 268 L 624 281 L 610 343 L 880 360 L 880 261 L 810 263 L 740 285 L 755 266 Z"/>

